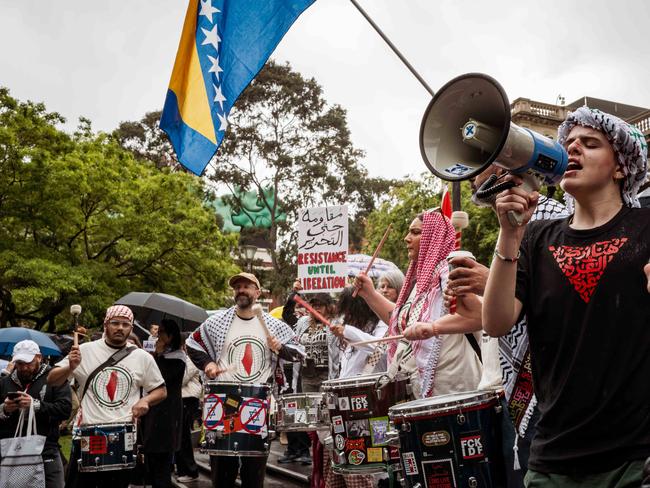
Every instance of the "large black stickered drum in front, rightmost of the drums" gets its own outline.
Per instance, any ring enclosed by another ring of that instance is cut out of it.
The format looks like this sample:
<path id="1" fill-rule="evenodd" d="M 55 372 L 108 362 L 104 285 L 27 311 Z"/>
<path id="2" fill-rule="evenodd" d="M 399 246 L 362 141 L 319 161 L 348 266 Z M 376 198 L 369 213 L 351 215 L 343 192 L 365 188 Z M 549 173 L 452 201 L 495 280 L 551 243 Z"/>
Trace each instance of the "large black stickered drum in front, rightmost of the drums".
<path id="1" fill-rule="evenodd" d="M 501 404 L 494 391 L 423 398 L 392 407 L 409 487 L 505 486 Z"/>

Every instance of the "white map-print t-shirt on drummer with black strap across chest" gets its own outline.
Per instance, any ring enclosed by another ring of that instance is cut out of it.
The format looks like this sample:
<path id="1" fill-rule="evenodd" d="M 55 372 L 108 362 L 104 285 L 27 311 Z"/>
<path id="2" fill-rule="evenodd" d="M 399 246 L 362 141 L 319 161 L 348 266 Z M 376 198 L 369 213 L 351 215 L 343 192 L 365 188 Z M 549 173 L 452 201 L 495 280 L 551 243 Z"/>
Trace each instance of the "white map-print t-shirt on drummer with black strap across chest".
<path id="1" fill-rule="evenodd" d="M 104 339 L 87 342 L 79 346 L 81 364 L 72 372 L 81 394 L 86 379 L 95 368 L 117 352 Z M 68 357 L 56 366 L 67 367 Z M 136 349 L 115 366 L 104 368 L 89 385 L 81 400 L 75 424 L 97 425 L 131 421 L 131 407 L 143 394 L 164 385 L 162 375 L 153 356 L 142 349 Z"/>

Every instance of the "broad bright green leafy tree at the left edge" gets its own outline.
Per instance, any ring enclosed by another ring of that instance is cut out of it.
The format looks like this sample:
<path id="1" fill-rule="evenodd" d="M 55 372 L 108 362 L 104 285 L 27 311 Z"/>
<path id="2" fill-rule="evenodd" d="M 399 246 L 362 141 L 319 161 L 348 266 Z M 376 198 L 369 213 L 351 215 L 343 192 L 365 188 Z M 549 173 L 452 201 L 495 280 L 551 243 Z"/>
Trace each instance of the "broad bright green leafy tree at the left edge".
<path id="1" fill-rule="evenodd" d="M 0 326 L 87 323 L 134 290 L 225 302 L 235 240 L 199 178 L 134 160 L 87 122 L 69 136 L 42 104 L 0 89 Z"/>

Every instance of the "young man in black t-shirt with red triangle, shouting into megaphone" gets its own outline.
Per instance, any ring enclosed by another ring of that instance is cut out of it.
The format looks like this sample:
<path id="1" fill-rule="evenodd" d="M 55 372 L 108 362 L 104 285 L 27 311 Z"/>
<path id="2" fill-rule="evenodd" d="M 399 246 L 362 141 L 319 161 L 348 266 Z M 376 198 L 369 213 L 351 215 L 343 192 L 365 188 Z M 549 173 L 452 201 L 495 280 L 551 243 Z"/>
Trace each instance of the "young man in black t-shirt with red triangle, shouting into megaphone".
<path id="1" fill-rule="evenodd" d="M 650 210 L 636 208 L 647 145 L 588 107 L 569 114 L 558 141 L 572 215 L 528 224 L 536 192 L 498 196 L 483 328 L 502 336 L 528 318 L 540 418 L 526 485 L 639 486 L 650 455 L 650 390 L 634 386 L 650 375 Z M 527 225 L 512 226 L 509 211 Z"/>

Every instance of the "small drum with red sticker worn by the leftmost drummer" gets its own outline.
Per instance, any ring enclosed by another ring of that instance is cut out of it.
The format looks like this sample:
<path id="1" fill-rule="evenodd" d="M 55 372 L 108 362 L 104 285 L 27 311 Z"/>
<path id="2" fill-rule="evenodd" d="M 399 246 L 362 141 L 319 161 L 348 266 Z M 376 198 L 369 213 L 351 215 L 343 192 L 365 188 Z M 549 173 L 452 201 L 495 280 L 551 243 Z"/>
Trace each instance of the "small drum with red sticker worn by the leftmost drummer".
<path id="1" fill-rule="evenodd" d="M 72 431 L 72 452 L 80 472 L 135 467 L 135 425 L 82 425 Z"/>

